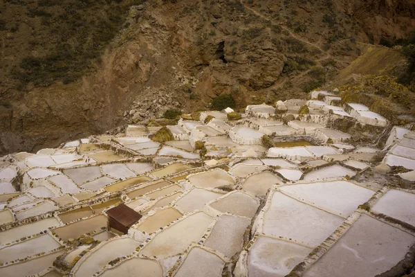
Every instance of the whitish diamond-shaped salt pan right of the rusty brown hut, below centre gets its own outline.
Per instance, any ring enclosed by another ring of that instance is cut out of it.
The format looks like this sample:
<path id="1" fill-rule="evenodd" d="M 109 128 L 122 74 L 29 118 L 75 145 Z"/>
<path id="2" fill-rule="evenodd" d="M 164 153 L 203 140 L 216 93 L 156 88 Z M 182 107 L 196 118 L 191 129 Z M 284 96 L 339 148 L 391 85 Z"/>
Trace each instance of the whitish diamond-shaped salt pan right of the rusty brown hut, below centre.
<path id="1" fill-rule="evenodd" d="M 181 211 L 185 213 L 191 213 L 195 210 L 200 210 L 205 206 L 206 203 L 221 197 L 223 194 L 214 193 L 210 190 L 204 190 L 203 188 L 194 188 L 190 190 L 181 199 L 175 203 Z"/>

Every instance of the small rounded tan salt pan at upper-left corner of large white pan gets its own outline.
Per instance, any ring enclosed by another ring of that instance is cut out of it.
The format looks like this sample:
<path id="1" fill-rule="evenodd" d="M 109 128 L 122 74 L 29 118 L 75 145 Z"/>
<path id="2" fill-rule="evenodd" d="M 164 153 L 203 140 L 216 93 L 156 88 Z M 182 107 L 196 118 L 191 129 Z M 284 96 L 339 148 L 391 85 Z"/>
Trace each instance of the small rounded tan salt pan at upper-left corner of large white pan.
<path id="1" fill-rule="evenodd" d="M 248 177 L 242 188 L 255 195 L 266 195 L 268 189 L 275 184 L 282 184 L 282 179 L 271 172 L 261 172 Z"/>

